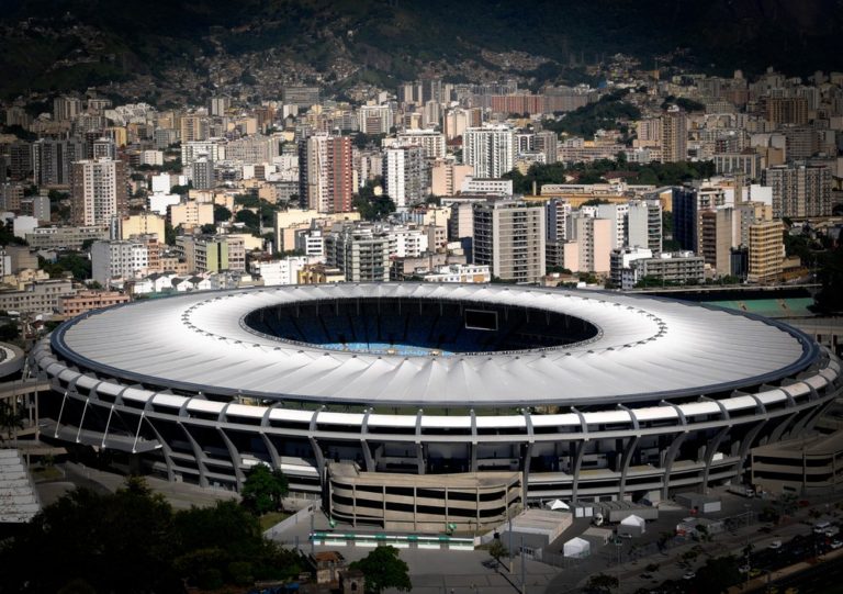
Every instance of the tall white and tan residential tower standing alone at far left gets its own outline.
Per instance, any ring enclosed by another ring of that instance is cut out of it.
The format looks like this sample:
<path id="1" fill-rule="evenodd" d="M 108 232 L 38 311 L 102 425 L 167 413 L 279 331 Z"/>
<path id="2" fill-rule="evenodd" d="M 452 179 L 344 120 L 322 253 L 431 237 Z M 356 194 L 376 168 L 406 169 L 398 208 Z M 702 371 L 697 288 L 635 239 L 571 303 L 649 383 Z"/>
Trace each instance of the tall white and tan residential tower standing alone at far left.
<path id="1" fill-rule="evenodd" d="M 111 224 L 128 214 L 126 166 L 112 159 L 74 162 L 70 214 L 76 225 Z"/>

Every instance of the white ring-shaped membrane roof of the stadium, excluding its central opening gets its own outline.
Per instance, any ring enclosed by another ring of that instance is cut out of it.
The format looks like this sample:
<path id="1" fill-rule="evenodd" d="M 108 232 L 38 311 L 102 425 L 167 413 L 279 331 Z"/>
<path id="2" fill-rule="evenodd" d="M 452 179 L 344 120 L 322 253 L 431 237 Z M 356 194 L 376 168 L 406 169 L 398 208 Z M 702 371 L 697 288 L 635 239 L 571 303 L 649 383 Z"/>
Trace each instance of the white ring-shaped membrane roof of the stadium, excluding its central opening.
<path id="1" fill-rule="evenodd" d="M 593 340 L 551 349 L 370 355 L 280 341 L 243 324 L 295 301 L 425 299 L 527 306 L 586 320 Z M 757 385 L 791 376 L 817 346 L 782 324 L 692 303 L 488 284 L 344 283 L 202 292 L 101 310 L 63 325 L 54 351 L 128 383 L 389 405 L 632 402 Z"/>

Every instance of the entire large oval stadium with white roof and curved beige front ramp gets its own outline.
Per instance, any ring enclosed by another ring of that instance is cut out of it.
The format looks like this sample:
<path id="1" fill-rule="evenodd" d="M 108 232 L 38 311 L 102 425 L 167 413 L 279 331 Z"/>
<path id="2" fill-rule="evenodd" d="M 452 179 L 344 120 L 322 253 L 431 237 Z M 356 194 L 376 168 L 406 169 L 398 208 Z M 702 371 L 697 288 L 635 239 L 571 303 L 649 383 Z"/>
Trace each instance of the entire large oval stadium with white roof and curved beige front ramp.
<path id="1" fill-rule="evenodd" d="M 501 284 L 190 293 L 70 320 L 38 344 L 44 432 L 173 481 L 280 468 L 334 517 L 499 523 L 525 501 L 659 500 L 740 481 L 798 436 L 841 365 L 753 315 Z"/>

